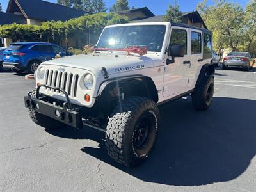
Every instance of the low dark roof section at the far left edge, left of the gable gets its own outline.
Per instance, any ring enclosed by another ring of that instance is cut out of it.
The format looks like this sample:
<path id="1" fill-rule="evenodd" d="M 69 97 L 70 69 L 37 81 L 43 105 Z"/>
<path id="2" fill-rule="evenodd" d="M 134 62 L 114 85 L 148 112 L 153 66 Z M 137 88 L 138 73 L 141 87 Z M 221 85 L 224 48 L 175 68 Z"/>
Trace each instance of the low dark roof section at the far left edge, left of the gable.
<path id="1" fill-rule="evenodd" d="M 0 25 L 4 24 L 12 24 L 12 23 L 17 23 L 17 24 L 26 24 L 26 19 L 22 15 L 14 15 L 10 13 L 3 13 L 0 12 Z"/>

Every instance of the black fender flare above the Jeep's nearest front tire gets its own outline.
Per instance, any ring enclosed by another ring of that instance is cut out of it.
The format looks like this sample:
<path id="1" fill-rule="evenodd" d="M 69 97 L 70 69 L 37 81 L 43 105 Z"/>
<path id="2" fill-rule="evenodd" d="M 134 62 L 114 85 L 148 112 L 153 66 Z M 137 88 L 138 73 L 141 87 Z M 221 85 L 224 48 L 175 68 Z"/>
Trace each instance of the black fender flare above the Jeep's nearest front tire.
<path id="1" fill-rule="evenodd" d="M 151 79 L 151 77 L 148 76 L 143 76 L 143 75 L 134 75 L 134 76 L 125 76 L 125 77 L 118 77 L 115 79 L 108 79 L 107 81 L 104 81 L 102 84 L 100 84 L 100 88 L 97 93 L 97 97 L 100 96 L 100 94 L 108 88 L 108 86 L 111 83 L 116 83 L 116 82 L 122 82 L 122 81 L 127 81 L 127 80 L 132 80 L 132 79 L 141 79 L 145 83 L 145 86 L 150 92 L 150 98 L 154 100 L 154 102 L 158 102 L 158 93 L 156 89 L 156 85 L 154 84 L 154 81 Z"/>

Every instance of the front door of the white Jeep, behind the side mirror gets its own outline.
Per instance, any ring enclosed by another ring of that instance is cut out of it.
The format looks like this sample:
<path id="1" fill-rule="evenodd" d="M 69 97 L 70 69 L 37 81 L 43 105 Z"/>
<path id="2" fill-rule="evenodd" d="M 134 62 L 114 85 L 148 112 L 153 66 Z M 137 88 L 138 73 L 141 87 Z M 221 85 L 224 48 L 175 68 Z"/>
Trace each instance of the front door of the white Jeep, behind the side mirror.
<path id="1" fill-rule="evenodd" d="M 185 56 L 175 57 L 174 63 L 164 66 L 163 97 L 169 97 L 186 90 L 189 74 L 188 29 L 178 26 L 171 28 L 170 46 L 184 45 Z M 169 47 L 170 47 L 169 46 Z M 168 56 L 172 60 L 171 56 Z"/>

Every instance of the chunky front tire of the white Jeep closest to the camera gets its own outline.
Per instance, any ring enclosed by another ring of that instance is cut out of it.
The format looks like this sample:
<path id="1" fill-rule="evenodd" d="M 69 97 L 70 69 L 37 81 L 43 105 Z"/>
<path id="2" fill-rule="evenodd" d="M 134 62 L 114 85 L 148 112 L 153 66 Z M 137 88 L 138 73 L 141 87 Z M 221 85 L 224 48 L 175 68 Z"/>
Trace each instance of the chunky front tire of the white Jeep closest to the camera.
<path id="1" fill-rule="evenodd" d="M 150 119 L 150 132 L 143 148 L 136 148 L 136 132 L 143 116 Z M 134 167 L 147 159 L 156 141 L 160 115 L 156 103 L 145 97 L 129 97 L 118 104 L 106 129 L 106 148 L 116 162 Z"/>

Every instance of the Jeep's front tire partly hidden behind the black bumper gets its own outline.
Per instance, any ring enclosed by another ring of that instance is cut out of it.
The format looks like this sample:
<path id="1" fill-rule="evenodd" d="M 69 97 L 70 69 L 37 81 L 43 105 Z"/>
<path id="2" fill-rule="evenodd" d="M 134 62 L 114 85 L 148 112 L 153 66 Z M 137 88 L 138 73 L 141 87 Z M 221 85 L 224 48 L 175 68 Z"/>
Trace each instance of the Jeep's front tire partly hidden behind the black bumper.
<path id="1" fill-rule="evenodd" d="M 30 97 L 36 97 L 36 91 L 33 90 L 31 92 Z M 54 120 L 53 118 L 50 118 L 49 116 L 42 115 L 38 112 L 36 112 L 33 109 L 28 109 L 28 115 L 35 122 L 35 124 L 40 125 L 41 127 L 44 127 L 45 129 L 58 129 L 60 127 L 64 127 L 65 124 L 58 122 L 57 120 Z"/>

